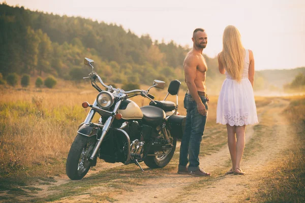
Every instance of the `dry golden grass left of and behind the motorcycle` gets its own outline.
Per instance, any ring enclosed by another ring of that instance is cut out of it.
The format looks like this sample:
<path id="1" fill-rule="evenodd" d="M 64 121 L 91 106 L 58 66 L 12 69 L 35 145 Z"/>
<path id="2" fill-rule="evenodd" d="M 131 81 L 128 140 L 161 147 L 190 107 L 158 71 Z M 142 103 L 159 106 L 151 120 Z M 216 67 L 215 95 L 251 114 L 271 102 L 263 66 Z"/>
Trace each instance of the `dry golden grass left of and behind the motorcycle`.
<path id="1" fill-rule="evenodd" d="M 0 92 L 0 179 L 11 179 L 11 183 L 14 179 L 19 184 L 25 177 L 65 174 L 66 157 L 77 127 L 88 112 L 81 103 L 93 103 L 97 91 L 88 83 L 59 81 L 54 89 L 2 87 Z M 167 90 L 151 89 L 150 93 L 162 100 Z M 149 104 L 149 99 L 141 96 L 132 99 L 139 106 Z M 175 99 L 170 95 L 167 100 Z M 181 90 L 179 112 L 186 115 L 183 99 Z M 210 100 L 208 125 L 216 126 L 217 96 Z"/>

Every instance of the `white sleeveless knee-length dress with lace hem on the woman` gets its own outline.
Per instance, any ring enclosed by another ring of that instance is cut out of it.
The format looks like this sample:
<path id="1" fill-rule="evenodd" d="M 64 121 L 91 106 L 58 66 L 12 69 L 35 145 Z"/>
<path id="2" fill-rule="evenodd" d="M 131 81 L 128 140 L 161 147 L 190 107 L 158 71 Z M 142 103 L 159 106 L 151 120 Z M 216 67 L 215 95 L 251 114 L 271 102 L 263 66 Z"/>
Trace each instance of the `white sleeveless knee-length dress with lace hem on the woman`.
<path id="1" fill-rule="evenodd" d="M 249 50 L 245 51 L 245 62 L 241 81 L 231 79 L 226 71 L 217 103 L 216 122 L 231 126 L 242 126 L 258 123 L 254 93 L 249 81 Z"/>

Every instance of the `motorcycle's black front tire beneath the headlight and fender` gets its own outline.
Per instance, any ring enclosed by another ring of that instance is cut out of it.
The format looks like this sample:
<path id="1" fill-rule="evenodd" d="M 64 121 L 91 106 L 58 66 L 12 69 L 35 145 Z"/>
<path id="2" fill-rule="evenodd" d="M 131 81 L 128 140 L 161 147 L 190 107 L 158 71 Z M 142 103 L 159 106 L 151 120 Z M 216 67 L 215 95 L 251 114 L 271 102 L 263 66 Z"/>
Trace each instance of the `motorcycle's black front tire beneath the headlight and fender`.
<path id="1" fill-rule="evenodd" d="M 96 142 L 96 137 L 77 134 L 66 163 L 66 173 L 71 180 L 80 180 L 89 171 L 91 162 L 88 157 L 91 156 Z"/>

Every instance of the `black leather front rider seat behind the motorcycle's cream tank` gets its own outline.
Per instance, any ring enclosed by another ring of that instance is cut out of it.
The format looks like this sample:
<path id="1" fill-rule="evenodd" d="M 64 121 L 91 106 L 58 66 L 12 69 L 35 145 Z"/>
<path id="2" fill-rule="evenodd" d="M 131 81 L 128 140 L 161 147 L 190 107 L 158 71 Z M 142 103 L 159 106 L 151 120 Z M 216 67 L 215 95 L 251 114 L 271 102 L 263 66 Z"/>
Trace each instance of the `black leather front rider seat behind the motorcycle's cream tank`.
<path id="1" fill-rule="evenodd" d="M 165 112 L 158 107 L 144 106 L 140 109 L 143 113 L 142 121 L 144 124 L 156 127 L 165 120 Z"/>

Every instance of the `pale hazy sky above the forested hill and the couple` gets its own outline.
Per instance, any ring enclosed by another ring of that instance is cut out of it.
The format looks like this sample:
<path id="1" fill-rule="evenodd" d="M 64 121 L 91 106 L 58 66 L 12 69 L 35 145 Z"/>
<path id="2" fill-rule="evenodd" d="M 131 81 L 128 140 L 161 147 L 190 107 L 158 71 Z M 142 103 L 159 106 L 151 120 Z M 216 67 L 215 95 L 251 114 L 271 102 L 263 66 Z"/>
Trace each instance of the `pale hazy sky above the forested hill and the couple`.
<path id="1" fill-rule="evenodd" d="M 4 2 L 4 1 L 2 1 Z M 203 53 L 215 57 L 222 50 L 223 30 L 235 25 L 243 46 L 251 49 L 256 70 L 305 66 L 304 0 L 6 0 L 10 6 L 60 16 L 81 16 L 115 23 L 139 37 L 173 40 L 193 46 L 192 34 L 204 28 L 208 43 Z"/>

